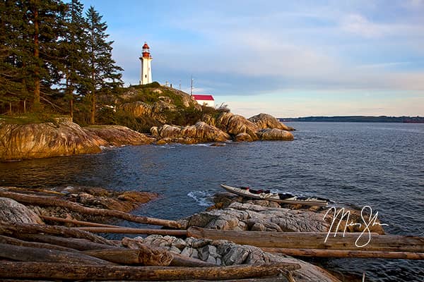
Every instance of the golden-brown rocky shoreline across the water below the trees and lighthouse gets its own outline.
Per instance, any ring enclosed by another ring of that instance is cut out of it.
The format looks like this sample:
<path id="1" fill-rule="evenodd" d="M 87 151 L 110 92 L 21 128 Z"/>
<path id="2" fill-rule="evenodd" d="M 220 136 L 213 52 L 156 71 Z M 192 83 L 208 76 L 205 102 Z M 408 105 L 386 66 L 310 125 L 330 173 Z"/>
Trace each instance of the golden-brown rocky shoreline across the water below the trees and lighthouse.
<path id="1" fill-rule="evenodd" d="M 276 118 L 259 114 L 244 118 L 222 113 L 218 118 L 204 116 L 194 125 L 153 126 L 151 134 L 122 125 L 92 125 L 81 128 L 71 118 L 52 123 L 11 124 L 0 119 L 0 161 L 95 154 L 102 147 L 167 143 L 293 140 L 289 128 Z"/>

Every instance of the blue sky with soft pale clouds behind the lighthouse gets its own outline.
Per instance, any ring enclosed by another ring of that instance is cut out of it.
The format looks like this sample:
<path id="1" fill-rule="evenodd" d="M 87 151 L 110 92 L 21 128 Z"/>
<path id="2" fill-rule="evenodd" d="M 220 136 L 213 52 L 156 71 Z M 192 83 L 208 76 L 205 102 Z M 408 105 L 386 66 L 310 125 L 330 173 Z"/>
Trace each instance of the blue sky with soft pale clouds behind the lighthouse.
<path id="1" fill-rule="evenodd" d="M 424 116 L 424 0 L 83 0 L 126 86 L 151 47 L 161 84 L 242 116 Z"/>

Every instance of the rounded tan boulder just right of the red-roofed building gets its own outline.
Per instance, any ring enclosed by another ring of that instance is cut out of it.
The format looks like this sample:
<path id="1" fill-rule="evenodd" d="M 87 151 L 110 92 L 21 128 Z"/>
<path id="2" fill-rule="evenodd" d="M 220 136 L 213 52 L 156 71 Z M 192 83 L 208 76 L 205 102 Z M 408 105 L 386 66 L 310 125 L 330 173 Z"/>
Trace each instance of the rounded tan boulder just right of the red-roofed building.
<path id="1" fill-rule="evenodd" d="M 232 113 L 222 113 L 216 118 L 216 127 L 232 136 L 237 136 L 240 133 L 247 133 L 252 137 L 252 140 L 258 140 L 258 126 L 252 123 L 252 121 L 248 121 L 244 116 Z"/>

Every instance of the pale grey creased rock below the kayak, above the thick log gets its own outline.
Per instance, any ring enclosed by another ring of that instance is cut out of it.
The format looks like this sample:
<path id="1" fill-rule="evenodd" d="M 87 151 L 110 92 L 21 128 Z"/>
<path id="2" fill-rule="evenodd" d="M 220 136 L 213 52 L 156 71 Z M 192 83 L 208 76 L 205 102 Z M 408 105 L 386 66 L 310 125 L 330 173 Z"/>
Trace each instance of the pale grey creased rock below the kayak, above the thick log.
<path id="1" fill-rule="evenodd" d="M 200 212 L 186 220 L 187 226 L 233 231 L 326 232 L 329 230 L 329 223 L 317 212 L 240 202 L 232 202 L 225 209 Z"/>

